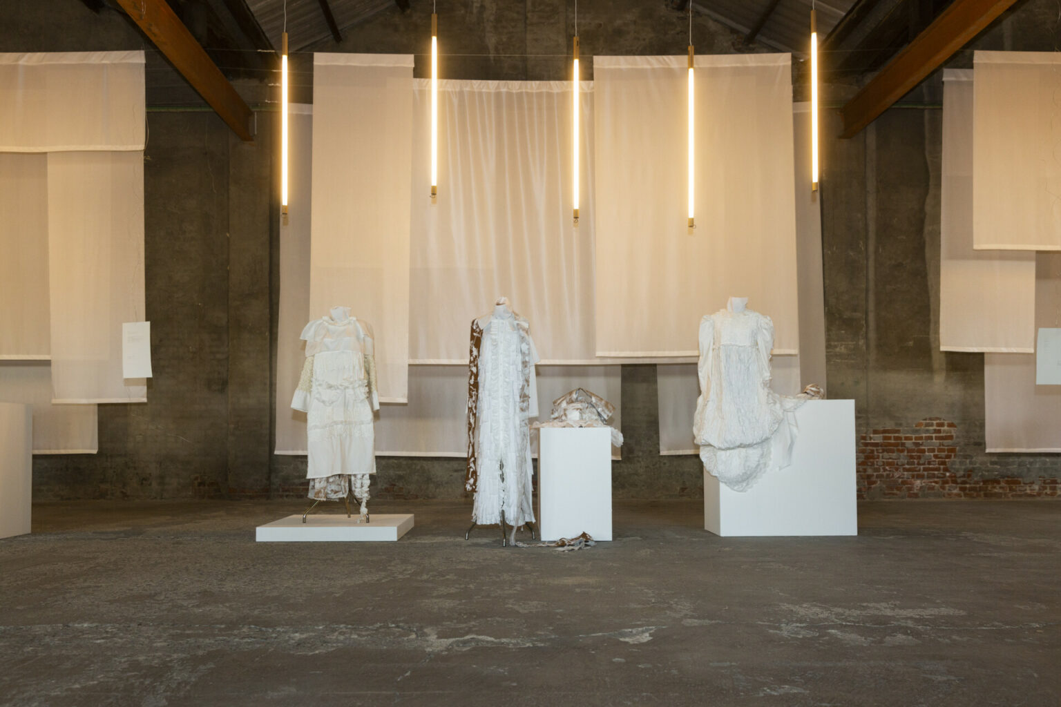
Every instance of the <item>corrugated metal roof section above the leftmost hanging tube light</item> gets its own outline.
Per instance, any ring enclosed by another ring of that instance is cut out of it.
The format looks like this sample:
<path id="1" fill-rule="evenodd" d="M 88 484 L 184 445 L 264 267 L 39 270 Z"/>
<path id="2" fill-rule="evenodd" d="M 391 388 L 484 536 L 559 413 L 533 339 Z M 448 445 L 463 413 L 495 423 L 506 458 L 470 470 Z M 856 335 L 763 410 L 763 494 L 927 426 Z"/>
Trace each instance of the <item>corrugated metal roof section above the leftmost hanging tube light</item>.
<path id="1" fill-rule="evenodd" d="M 246 0 L 265 36 L 280 50 L 280 34 L 283 32 L 284 4 L 288 6 L 288 42 L 290 51 L 331 37 L 318 0 Z M 328 0 L 340 32 L 372 15 L 394 7 L 394 0 Z"/>

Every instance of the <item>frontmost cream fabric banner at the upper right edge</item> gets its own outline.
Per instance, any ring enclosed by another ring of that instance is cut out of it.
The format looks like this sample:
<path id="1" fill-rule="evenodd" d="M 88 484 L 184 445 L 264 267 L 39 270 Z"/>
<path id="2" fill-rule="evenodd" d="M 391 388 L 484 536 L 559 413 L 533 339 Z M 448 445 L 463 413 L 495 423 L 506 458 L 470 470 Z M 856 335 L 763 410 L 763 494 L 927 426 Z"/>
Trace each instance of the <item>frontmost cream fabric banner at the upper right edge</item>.
<path id="1" fill-rule="evenodd" d="M 1061 54 L 973 55 L 973 244 L 1061 250 Z"/>

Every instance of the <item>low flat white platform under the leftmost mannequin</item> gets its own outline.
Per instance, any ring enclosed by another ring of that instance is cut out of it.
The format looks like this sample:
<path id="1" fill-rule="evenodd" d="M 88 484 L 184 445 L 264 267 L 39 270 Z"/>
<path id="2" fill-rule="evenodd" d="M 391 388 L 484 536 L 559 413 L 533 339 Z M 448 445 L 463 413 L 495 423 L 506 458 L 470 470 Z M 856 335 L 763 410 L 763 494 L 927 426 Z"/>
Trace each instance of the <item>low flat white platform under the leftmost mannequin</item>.
<path id="1" fill-rule="evenodd" d="M 302 514 L 258 526 L 255 540 L 259 543 L 394 543 L 413 529 L 413 514 L 386 515 L 370 513 L 370 523 L 358 523 L 358 516 L 346 513 Z"/>

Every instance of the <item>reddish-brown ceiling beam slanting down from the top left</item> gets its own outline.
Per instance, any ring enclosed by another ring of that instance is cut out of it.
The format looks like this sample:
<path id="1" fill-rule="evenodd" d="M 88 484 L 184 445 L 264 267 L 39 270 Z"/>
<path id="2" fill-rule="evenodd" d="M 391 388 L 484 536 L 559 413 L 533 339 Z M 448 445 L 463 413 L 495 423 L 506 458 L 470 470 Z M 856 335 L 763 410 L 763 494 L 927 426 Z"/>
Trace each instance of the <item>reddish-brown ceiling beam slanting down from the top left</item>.
<path id="1" fill-rule="evenodd" d="M 236 92 L 206 50 L 192 36 L 166 0 L 117 0 L 125 14 L 159 51 L 170 59 L 192 88 L 210 105 L 223 121 L 245 142 L 254 142 L 250 134 L 250 107 Z"/>

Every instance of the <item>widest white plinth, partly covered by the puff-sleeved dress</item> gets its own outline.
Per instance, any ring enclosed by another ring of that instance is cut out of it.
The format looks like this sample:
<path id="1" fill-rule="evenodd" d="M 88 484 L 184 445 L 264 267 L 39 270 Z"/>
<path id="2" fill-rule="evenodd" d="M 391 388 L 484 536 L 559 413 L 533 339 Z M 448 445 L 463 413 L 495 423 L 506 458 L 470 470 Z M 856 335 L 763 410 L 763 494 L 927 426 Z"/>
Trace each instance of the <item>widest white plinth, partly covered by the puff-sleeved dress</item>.
<path id="1" fill-rule="evenodd" d="M 792 465 L 733 491 L 703 472 L 703 527 L 716 535 L 857 535 L 855 402 L 796 411 Z"/>

